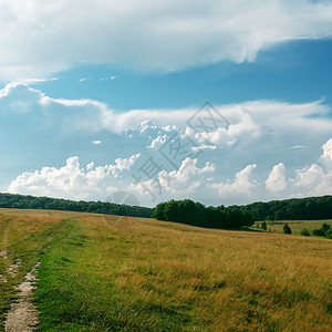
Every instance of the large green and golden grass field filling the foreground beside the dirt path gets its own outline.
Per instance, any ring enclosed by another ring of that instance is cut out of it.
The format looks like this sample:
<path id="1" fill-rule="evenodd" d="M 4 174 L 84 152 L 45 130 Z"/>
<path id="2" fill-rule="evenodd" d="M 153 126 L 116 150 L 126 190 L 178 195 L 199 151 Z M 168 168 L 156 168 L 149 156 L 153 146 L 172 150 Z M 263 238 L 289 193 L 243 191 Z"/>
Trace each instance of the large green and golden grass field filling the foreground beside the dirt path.
<path id="1" fill-rule="evenodd" d="M 2 209 L 0 227 L 2 273 L 22 261 L 2 320 L 41 261 L 39 331 L 331 331 L 328 239 L 41 210 Z"/>

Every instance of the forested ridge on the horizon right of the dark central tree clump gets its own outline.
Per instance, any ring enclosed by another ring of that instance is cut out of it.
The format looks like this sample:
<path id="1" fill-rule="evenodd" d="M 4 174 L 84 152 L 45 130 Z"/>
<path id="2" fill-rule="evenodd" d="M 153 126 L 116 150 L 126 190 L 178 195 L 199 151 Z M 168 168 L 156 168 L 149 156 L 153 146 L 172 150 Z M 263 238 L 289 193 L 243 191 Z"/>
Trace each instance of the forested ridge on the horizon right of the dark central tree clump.
<path id="1" fill-rule="evenodd" d="M 332 196 L 258 201 L 236 208 L 248 211 L 256 221 L 332 219 Z"/>

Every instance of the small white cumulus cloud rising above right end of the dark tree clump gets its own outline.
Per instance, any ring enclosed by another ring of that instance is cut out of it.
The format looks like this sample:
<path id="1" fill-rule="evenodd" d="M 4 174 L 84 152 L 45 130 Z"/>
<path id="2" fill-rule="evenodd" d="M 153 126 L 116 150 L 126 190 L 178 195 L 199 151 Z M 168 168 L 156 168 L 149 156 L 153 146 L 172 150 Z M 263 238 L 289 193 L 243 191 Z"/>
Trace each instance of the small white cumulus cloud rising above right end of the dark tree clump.
<path id="1" fill-rule="evenodd" d="M 257 180 L 250 179 L 256 167 L 256 164 L 246 166 L 236 174 L 234 181 L 228 179 L 226 183 L 210 184 L 209 186 L 217 189 L 220 197 L 250 195 L 251 189 L 258 186 Z"/>

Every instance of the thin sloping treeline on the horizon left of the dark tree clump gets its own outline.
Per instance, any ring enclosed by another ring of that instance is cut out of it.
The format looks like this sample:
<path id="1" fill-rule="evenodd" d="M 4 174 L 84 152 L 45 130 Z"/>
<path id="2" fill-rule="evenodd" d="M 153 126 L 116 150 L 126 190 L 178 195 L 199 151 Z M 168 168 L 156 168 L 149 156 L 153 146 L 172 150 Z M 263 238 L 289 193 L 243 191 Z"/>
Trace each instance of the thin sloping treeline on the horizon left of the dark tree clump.
<path id="1" fill-rule="evenodd" d="M 149 218 L 152 208 L 107 201 L 74 201 L 49 197 L 0 194 L 0 208 L 50 209 Z"/>

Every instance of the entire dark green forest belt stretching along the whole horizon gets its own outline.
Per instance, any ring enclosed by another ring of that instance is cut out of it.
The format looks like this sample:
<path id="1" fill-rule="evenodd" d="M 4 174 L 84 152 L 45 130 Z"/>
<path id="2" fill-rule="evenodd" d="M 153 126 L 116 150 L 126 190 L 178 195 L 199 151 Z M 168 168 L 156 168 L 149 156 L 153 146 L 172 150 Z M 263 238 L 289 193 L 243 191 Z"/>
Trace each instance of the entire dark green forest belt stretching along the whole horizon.
<path id="1" fill-rule="evenodd" d="M 154 217 L 211 228 L 248 226 L 251 220 L 321 220 L 332 219 L 332 196 L 292 198 L 245 206 L 206 207 L 193 200 L 170 200 L 155 208 L 107 201 L 75 201 L 69 199 L 0 194 L 0 208 L 53 209 L 131 217 Z"/>

